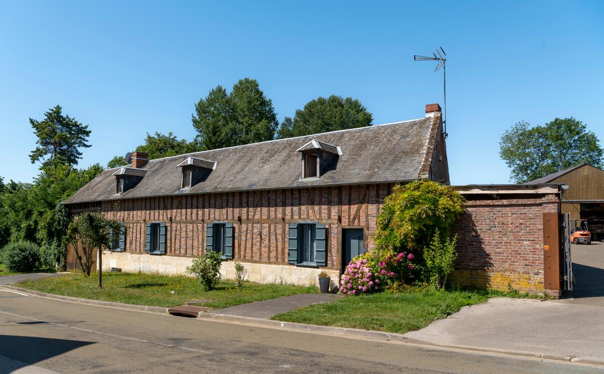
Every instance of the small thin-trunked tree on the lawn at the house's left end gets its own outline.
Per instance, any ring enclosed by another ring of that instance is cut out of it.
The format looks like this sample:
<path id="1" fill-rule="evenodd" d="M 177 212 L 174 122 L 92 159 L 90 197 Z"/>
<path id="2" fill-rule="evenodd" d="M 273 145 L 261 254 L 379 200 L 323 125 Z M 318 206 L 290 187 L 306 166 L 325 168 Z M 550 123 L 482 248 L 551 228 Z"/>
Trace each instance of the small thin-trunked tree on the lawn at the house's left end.
<path id="1" fill-rule="evenodd" d="M 87 277 L 90 276 L 94 264 L 92 251 L 98 248 L 98 288 L 103 288 L 103 248 L 109 249 L 114 239 L 112 233 L 117 235 L 120 229 L 120 221 L 107 219 L 98 211 L 86 211 L 69 224 L 68 243 L 73 245 L 80 268 Z M 82 245 L 83 256 L 77 250 L 78 242 Z"/>

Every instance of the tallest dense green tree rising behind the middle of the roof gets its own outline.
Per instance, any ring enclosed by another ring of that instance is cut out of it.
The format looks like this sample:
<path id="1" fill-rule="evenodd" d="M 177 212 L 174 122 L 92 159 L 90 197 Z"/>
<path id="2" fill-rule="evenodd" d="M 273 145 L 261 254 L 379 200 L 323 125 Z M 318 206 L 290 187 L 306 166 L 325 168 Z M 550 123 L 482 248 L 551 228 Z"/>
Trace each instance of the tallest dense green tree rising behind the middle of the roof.
<path id="1" fill-rule="evenodd" d="M 204 149 L 272 140 L 278 121 L 272 101 L 255 79 L 240 79 L 230 94 L 216 86 L 199 100 L 191 116 Z"/>

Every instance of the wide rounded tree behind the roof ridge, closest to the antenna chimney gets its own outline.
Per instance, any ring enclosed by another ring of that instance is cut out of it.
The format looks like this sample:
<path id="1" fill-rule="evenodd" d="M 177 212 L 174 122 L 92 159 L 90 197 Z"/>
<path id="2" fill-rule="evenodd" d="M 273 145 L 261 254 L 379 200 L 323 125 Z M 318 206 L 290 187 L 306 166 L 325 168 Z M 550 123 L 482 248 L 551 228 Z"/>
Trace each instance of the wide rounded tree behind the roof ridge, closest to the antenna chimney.
<path id="1" fill-rule="evenodd" d="M 294 116 L 285 117 L 277 131 L 277 138 L 301 137 L 321 132 L 371 126 L 373 114 L 352 97 L 331 95 L 311 100 Z"/>

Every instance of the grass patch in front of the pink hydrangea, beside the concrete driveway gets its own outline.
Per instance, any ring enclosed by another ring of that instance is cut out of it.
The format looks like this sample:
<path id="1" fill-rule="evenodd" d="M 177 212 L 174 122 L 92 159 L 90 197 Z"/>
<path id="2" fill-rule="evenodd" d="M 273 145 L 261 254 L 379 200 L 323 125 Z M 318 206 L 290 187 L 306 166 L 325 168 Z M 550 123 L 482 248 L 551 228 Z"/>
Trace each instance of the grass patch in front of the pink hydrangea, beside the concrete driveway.
<path id="1" fill-rule="evenodd" d="M 492 290 L 434 291 L 412 289 L 347 296 L 277 314 L 272 320 L 352 327 L 403 334 L 422 329 L 432 321 L 451 315 L 467 305 L 484 303 L 490 297 L 538 297 Z"/>

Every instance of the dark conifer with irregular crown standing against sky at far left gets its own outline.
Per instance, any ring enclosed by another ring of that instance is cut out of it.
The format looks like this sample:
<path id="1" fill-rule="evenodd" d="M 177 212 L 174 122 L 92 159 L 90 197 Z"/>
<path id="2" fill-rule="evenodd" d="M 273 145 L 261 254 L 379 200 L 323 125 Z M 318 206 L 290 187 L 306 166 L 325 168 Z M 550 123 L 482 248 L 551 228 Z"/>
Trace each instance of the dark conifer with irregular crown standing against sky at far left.
<path id="1" fill-rule="evenodd" d="M 38 140 L 37 147 L 30 153 L 31 163 L 39 161 L 42 167 L 56 164 L 74 166 L 82 158 L 79 147 L 88 148 L 90 130 L 76 118 L 62 114 L 63 109 L 57 105 L 45 112 L 42 121 L 30 118 L 31 127 Z"/>

